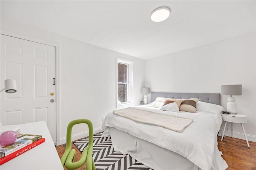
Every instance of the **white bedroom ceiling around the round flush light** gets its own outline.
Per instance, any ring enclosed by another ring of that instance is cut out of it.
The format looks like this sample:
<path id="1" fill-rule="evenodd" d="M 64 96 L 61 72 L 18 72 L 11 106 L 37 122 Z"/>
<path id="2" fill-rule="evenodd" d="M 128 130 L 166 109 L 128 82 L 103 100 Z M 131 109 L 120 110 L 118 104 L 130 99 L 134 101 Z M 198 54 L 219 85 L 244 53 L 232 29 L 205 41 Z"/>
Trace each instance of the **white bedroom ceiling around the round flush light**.
<path id="1" fill-rule="evenodd" d="M 170 17 L 153 22 L 159 6 Z M 140 59 L 254 32 L 255 15 L 255 1 L 1 1 L 1 18 Z"/>

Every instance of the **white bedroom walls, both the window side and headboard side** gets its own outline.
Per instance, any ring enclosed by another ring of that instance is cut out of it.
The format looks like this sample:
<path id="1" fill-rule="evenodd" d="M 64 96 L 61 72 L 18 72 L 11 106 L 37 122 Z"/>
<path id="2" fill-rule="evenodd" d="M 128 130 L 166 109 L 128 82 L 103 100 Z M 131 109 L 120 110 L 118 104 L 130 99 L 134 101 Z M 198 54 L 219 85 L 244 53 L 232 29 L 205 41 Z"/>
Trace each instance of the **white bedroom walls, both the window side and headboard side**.
<path id="1" fill-rule="evenodd" d="M 100 130 L 102 117 L 115 109 L 116 56 L 135 61 L 136 105 L 143 98 L 140 89 L 144 85 L 151 91 L 220 93 L 220 85 L 242 84 L 243 95 L 235 96 L 238 113 L 248 116 L 244 127 L 248 139 L 256 141 L 255 33 L 143 61 L 4 18 L 1 18 L 1 29 L 60 46 L 62 143 L 71 120 L 90 119 L 97 131 Z M 103 88 L 99 88 L 102 84 Z M 76 90 L 72 90 L 74 85 Z M 221 97 L 225 109 L 227 97 Z M 231 130 L 230 125 L 228 130 Z M 86 131 L 87 128 L 77 127 L 73 133 L 80 138 L 86 135 Z M 240 125 L 235 124 L 234 131 L 234 137 L 244 138 Z M 230 135 L 230 132 L 226 134 Z"/>

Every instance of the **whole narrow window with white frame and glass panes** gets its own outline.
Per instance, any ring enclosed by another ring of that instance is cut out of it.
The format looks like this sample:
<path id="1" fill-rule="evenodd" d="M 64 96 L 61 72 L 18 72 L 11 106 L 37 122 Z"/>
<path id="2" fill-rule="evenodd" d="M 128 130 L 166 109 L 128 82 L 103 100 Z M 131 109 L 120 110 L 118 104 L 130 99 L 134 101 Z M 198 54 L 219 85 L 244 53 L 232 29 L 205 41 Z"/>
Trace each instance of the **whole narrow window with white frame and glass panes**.
<path id="1" fill-rule="evenodd" d="M 121 59 L 116 60 L 116 103 L 117 107 L 132 104 L 133 93 L 133 61 Z"/>

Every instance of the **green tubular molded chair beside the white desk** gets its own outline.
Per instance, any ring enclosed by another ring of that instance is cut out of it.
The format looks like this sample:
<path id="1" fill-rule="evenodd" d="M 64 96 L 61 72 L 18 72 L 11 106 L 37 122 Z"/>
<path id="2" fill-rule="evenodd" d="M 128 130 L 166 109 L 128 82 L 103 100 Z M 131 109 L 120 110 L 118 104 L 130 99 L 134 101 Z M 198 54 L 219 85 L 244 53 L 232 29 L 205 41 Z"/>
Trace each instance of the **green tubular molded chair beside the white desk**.
<path id="1" fill-rule="evenodd" d="M 89 144 L 88 144 L 88 147 L 84 148 L 81 159 L 78 160 L 77 162 L 73 162 L 74 161 L 74 156 L 76 154 L 76 150 L 75 149 L 71 150 L 71 146 L 72 146 L 72 142 L 71 142 L 72 128 L 73 128 L 74 125 L 80 124 L 80 123 L 85 123 L 85 124 L 88 125 L 88 128 L 89 128 Z M 60 159 L 60 161 L 62 163 L 62 166 L 65 165 L 65 167 L 68 170 L 73 170 L 73 169 L 80 168 L 86 162 L 86 170 L 95 170 L 96 167 L 95 167 L 94 161 L 92 159 L 92 149 L 93 149 L 93 127 L 92 127 L 92 122 L 89 121 L 88 119 L 77 119 L 77 120 L 71 121 L 68 124 L 68 128 L 67 128 L 66 149 L 65 149 L 65 152 L 64 152 L 62 158 Z"/>

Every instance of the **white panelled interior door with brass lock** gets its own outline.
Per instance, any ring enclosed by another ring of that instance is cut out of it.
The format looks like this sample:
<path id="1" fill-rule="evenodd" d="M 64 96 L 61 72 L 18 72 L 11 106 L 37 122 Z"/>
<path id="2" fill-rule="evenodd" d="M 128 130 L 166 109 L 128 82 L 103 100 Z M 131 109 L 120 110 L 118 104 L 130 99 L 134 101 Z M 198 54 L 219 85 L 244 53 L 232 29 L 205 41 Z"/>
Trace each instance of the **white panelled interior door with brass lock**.
<path id="1" fill-rule="evenodd" d="M 17 83 L 16 93 L 0 94 L 1 123 L 46 121 L 56 142 L 56 85 L 53 79 L 56 76 L 56 48 L 5 35 L 1 35 L 0 41 L 0 87 L 4 87 L 5 79 L 14 79 Z"/>

